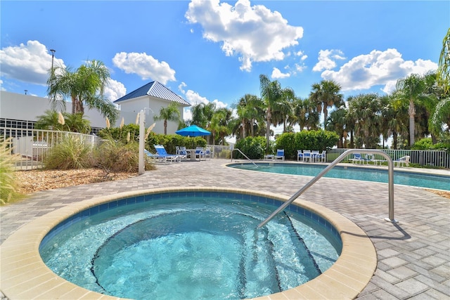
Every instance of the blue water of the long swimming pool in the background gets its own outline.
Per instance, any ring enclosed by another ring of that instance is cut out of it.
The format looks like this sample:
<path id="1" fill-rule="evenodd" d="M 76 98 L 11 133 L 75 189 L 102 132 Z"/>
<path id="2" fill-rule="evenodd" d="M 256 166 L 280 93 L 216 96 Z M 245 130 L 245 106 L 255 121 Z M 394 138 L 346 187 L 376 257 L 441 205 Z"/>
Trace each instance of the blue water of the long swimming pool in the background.
<path id="1" fill-rule="evenodd" d="M 323 164 L 277 164 L 258 163 L 259 167 L 250 163 L 229 164 L 235 169 L 245 169 L 278 174 L 291 174 L 302 176 L 316 176 L 326 168 Z M 354 179 L 359 181 L 375 181 L 388 183 L 387 170 L 380 170 L 368 167 L 341 167 L 337 166 L 328 171 L 324 177 Z M 401 185 L 411 185 L 420 188 L 436 188 L 439 190 L 450 190 L 449 176 L 419 174 L 406 171 L 394 170 L 394 183 Z"/>

